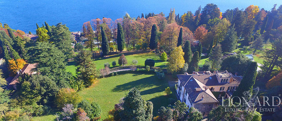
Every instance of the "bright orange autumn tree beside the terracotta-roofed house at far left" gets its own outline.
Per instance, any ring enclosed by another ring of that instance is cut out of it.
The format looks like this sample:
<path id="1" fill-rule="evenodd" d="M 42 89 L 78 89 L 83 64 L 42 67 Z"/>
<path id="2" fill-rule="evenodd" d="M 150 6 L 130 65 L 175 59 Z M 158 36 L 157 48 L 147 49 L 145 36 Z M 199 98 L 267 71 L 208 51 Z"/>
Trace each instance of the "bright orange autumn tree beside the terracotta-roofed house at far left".
<path id="1" fill-rule="evenodd" d="M 14 59 L 11 59 L 11 60 L 8 60 L 8 64 L 9 64 L 9 67 L 8 67 L 9 71 L 16 74 L 17 71 L 22 69 L 24 65 L 27 63 L 24 61 L 24 59 L 16 59 L 16 61 Z"/>

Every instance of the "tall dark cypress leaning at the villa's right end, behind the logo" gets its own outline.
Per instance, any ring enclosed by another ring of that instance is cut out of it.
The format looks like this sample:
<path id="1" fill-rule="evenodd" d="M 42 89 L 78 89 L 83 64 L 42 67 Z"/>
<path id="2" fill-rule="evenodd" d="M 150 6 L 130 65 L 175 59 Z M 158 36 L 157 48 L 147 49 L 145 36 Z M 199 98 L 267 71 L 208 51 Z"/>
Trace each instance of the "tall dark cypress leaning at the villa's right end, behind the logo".
<path id="1" fill-rule="evenodd" d="M 237 96 L 237 97 L 242 97 L 244 91 L 253 91 L 253 85 L 255 84 L 256 81 L 256 75 L 257 75 L 257 67 L 258 64 L 257 62 L 251 62 L 249 65 L 248 69 L 246 70 L 246 73 L 243 76 L 243 79 L 241 80 L 241 83 L 239 84 L 238 88 L 232 95 L 232 98 Z M 242 101 L 243 99 L 241 99 Z M 234 98 L 233 102 L 239 102 L 239 98 Z"/>

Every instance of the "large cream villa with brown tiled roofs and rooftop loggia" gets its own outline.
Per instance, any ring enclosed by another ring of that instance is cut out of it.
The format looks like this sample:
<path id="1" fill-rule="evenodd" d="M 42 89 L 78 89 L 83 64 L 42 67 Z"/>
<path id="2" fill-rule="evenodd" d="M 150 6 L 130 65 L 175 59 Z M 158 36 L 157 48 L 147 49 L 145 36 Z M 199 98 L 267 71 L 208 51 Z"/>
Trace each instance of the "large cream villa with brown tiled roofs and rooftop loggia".
<path id="1" fill-rule="evenodd" d="M 212 108 L 216 108 L 220 97 L 228 98 L 239 86 L 242 76 L 228 71 L 199 71 L 193 74 L 179 74 L 177 95 L 181 102 L 191 108 L 197 108 L 206 116 Z M 215 96 L 212 92 L 219 92 Z"/>

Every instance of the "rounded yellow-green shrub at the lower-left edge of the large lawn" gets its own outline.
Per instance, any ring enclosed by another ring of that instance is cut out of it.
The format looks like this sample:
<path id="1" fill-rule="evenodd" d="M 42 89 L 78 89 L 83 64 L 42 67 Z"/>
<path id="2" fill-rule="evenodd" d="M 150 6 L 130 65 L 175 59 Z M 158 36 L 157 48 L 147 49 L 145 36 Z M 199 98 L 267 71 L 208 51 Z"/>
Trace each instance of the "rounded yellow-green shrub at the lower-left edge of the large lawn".
<path id="1" fill-rule="evenodd" d="M 56 95 L 56 105 L 58 108 L 63 108 L 66 104 L 73 104 L 73 107 L 77 107 L 81 97 L 71 88 L 61 88 Z"/>

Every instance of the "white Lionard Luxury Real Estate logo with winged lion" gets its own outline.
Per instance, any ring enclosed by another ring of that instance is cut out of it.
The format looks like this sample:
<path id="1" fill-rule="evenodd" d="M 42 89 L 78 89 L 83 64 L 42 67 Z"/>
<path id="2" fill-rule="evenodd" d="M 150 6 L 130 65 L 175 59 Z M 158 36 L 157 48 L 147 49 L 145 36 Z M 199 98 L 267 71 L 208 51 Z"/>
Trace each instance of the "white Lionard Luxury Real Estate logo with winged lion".
<path id="1" fill-rule="evenodd" d="M 262 96 L 261 100 L 257 96 L 259 93 L 259 87 L 256 87 L 253 89 L 253 91 L 245 91 L 243 92 L 242 97 L 229 97 L 228 104 L 224 104 L 224 97 L 222 97 L 222 106 L 234 106 L 238 107 L 240 104 L 242 105 L 242 108 L 225 108 L 225 111 L 236 111 L 236 110 L 256 110 L 256 106 L 259 106 L 258 110 L 259 112 L 275 112 L 275 108 L 264 108 L 264 106 L 278 106 L 281 103 L 281 99 L 278 96 Z M 231 103 L 231 100 L 238 99 L 239 103 Z M 270 101 L 270 98 L 272 99 Z M 276 103 L 276 101 L 279 103 Z M 263 105 L 262 105 L 263 104 Z"/>

